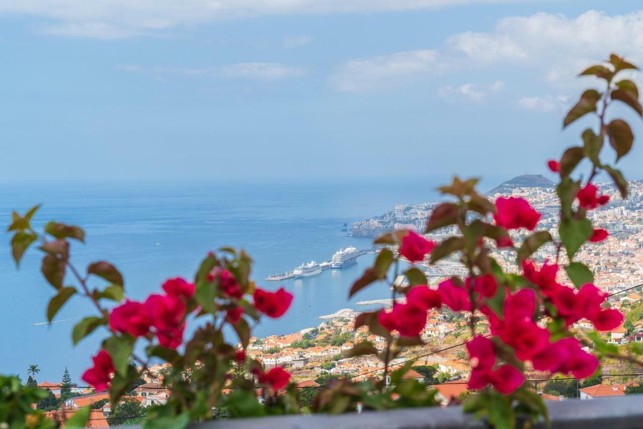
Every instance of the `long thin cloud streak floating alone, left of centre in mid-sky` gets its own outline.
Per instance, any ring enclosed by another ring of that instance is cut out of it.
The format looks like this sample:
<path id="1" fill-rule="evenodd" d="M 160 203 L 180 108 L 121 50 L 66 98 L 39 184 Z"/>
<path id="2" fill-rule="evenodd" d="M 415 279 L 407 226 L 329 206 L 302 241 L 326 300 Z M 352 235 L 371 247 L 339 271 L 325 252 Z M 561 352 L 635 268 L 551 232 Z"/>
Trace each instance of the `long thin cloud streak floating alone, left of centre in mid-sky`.
<path id="1" fill-rule="evenodd" d="M 305 70 L 302 68 L 286 66 L 278 62 L 240 62 L 237 64 L 206 68 L 145 68 L 136 65 L 121 65 L 116 66 L 116 69 L 135 73 L 151 74 L 155 77 L 163 75 L 183 75 L 192 77 L 260 80 L 264 82 L 302 77 L 305 75 Z"/>

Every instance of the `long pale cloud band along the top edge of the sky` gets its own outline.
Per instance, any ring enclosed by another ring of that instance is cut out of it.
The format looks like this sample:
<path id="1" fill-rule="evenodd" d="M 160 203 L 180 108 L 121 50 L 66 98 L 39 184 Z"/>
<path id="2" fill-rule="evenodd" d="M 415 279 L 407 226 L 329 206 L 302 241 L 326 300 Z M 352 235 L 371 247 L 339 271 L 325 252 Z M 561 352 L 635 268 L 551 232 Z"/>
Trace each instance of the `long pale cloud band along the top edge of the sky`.
<path id="1" fill-rule="evenodd" d="M 43 32 L 114 39 L 262 15 L 347 14 L 527 0 L 0 0 L 0 15 L 51 19 Z"/>

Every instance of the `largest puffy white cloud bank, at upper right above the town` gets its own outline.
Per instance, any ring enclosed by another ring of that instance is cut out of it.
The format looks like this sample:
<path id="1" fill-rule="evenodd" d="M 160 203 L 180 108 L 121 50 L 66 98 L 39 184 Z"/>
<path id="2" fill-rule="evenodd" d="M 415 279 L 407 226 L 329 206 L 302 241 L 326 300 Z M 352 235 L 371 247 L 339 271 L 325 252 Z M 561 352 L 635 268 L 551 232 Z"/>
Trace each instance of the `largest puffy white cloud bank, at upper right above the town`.
<path id="1" fill-rule="evenodd" d="M 426 60 L 413 56 L 421 51 L 407 51 L 351 60 L 338 67 L 331 85 L 337 91 L 364 91 L 367 85 L 359 84 L 363 80 L 377 82 L 368 89 L 379 89 L 399 86 L 401 78 L 412 84 L 447 71 L 498 69 L 507 73 L 529 68 L 551 86 L 569 87 L 570 82 L 577 82 L 575 76 L 581 69 L 610 52 L 643 62 L 643 11 L 609 16 L 590 10 L 571 18 L 545 13 L 507 17 L 490 32 L 458 33 L 426 51 L 432 53 L 431 73 Z M 401 57 L 408 57 L 405 68 L 387 66 Z"/>

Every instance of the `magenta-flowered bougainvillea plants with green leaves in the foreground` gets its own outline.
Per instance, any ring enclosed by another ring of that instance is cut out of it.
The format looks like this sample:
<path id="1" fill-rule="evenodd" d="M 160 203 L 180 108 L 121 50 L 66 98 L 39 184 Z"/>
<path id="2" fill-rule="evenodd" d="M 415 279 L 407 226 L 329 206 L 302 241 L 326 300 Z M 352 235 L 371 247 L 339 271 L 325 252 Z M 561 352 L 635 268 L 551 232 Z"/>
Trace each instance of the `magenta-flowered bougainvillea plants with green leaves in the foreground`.
<path id="1" fill-rule="evenodd" d="M 170 278 L 162 285 L 163 293 L 154 293 L 144 302 L 125 299 L 123 275 L 113 264 L 98 260 L 81 270 L 71 262 L 72 243 L 85 240 L 85 233 L 78 226 L 52 221 L 44 225 L 42 232 L 36 232 L 32 218 L 39 206 L 24 215 L 17 212 L 12 215 L 8 228 L 14 234 L 12 255 L 19 264 L 28 248 L 38 243 L 42 252 L 41 272 L 53 288 L 46 309 L 50 322 L 70 300 L 85 298 L 93 305 L 93 315 L 73 327 L 71 338 L 76 344 L 91 334 L 102 335 L 93 366 L 84 372 L 82 379 L 96 390 L 109 388 L 110 402 L 116 404 L 109 419 L 112 425 L 139 423 L 145 411 L 145 428 L 184 428 L 190 421 L 222 415 L 294 414 L 301 412 L 302 404 L 312 412 L 331 414 L 355 410 L 358 403 L 366 410 L 438 405 L 435 389 L 403 378 L 413 360 L 404 365 L 393 363 L 409 347 L 425 344 L 421 333 L 428 310 L 442 306 L 453 311 L 453 320 L 466 320 L 468 325 L 467 331 L 458 332 L 458 336 L 468 340 L 472 369 L 467 383 L 476 394 L 467 397 L 464 409 L 498 428 L 513 427 L 518 414 L 526 419 L 547 419 L 541 397 L 525 381 L 525 362 L 536 370 L 573 374 L 575 378 L 592 376 L 599 367 L 599 359 L 604 357 L 641 364 L 636 356 L 620 354 L 619 349 L 605 343 L 598 334 L 588 333 L 587 338 L 578 340 L 570 331 L 570 326 L 581 318 L 590 320 L 599 331 L 609 331 L 622 323 L 619 311 L 602 307 L 606 297 L 593 286 L 593 273 L 574 257 L 582 246 L 607 235 L 602 228 L 595 228 L 588 217 L 590 210 L 610 199 L 593 184 L 597 174 L 608 174 L 620 195 L 628 197 L 627 182 L 615 165 L 631 150 L 633 134 L 624 120 L 608 122 L 606 118 L 606 111 L 614 102 L 643 114 L 635 83 L 615 79 L 624 69 L 636 67 L 611 55 L 606 64 L 581 73 L 598 77 L 605 85 L 601 91 L 584 91 L 563 120 L 566 127 L 583 116 L 595 114 L 599 120 L 597 131 L 585 129 L 581 145 L 566 149 L 559 160 L 548 163 L 552 171 L 559 173 L 557 196 L 561 210 L 556 237 L 548 230 L 537 229 L 541 215 L 525 199 L 500 197 L 492 202 L 476 190 L 478 179 L 453 178 L 449 185 L 439 188 L 449 201 L 435 206 L 424 233 L 445 226 L 457 228 L 458 233 L 440 242 L 404 230 L 378 237 L 375 244 L 380 249 L 374 264 L 350 288 L 352 297 L 374 284 L 386 282 L 392 291 L 391 298 L 406 298 L 404 304 L 396 303 L 390 311 L 384 308 L 367 311 L 356 318 L 356 329 L 364 327 L 385 340 L 383 351 L 365 340 L 342 353 L 350 357 L 377 356 L 383 370 L 361 381 L 322 374 L 316 381 L 323 388 L 318 389 L 314 399 L 311 392 L 306 395 L 298 392 L 285 370 L 276 367 L 266 371 L 260 362 L 246 356 L 251 326 L 264 316 L 284 315 L 293 296 L 284 288 L 275 292 L 258 288 L 251 280 L 252 260 L 243 250 L 221 248 L 208 253 L 194 278 Z M 604 150 L 606 141 L 611 150 Z M 614 158 L 611 163 L 605 161 L 608 151 Z M 579 172 L 583 165 L 590 166 L 586 180 Z M 521 238 L 518 230 L 529 231 L 529 235 Z M 531 257 L 543 246 L 556 248 L 556 260 L 536 267 Z M 495 248 L 512 252 L 518 270 L 503 270 L 491 257 Z M 561 255 L 566 255 L 566 262 Z M 430 288 L 424 271 L 416 264 L 435 264 L 446 258 L 459 261 L 466 269 L 466 277 L 451 277 L 437 289 Z M 401 261 L 410 262 L 410 268 L 401 271 Z M 573 286 L 557 282 L 559 269 L 564 269 Z M 520 271 L 521 274 L 514 274 Z M 398 281 L 400 275 L 408 284 Z M 102 286 L 90 288 L 90 279 L 91 284 L 98 280 Z M 490 334 L 480 332 L 479 322 L 483 318 L 487 319 Z M 185 337 L 188 320 L 194 329 Z M 338 331 L 319 338 L 311 331 L 294 344 L 340 346 L 352 338 L 351 333 Z M 595 346 L 594 354 L 581 349 L 581 345 L 590 342 Z M 643 348 L 637 345 L 629 350 L 643 353 Z M 277 351 L 275 348 L 266 352 Z M 333 358 L 339 359 L 341 355 Z M 163 377 L 164 387 L 170 391 L 167 404 L 143 410 L 138 401 L 120 401 L 123 394 L 141 381 L 153 361 L 170 364 Z M 440 382 L 450 376 L 437 373 L 435 367 L 415 368 Z M 30 372 L 32 376 L 35 372 Z M 49 394 L 22 387 L 17 378 L 0 378 L 0 383 L 3 386 L 0 423 L 10 423 L 11 427 L 24 427 L 33 419 L 35 424 L 31 426 L 42 423 L 42 414 L 28 405 L 49 398 Z M 62 383 L 61 396 L 65 399 L 71 395 L 67 369 Z M 554 383 L 550 391 L 566 392 L 567 388 Z M 89 410 L 79 411 L 75 419 L 80 421 L 87 413 Z"/>

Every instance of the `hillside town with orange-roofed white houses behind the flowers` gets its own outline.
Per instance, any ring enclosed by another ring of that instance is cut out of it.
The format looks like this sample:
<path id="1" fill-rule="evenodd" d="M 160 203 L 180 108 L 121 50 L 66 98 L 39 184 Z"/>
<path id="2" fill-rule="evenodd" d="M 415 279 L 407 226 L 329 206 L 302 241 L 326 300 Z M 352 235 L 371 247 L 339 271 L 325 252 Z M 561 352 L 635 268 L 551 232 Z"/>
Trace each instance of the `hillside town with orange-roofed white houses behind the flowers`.
<path id="1" fill-rule="evenodd" d="M 537 178 L 538 186 L 530 185 L 530 180 L 521 176 L 503 183 L 488 194 L 493 200 L 498 196 L 520 196 L 543 214 L 538 228 L 547 229 L 556 237 L 557 226 L 557 196 L 555 189 L 548 185 L 547 179 Z M 518 183 L 518 185 L 512 185 Z M 617 197 L 617 191 L 608 184 L 599 185 L 601 191 L 612 198 L 610 203 L 597 208 L 589 214 L 593 223 L 610 232 L 610 237 L 602 242 L 586 244 L 578 254 L 577 260 L 586 263 L 595 274 L 595 284 L 603 291 L 610 293 L 608 304 L 620 309 L 626 320 L 620 327 L 603 333 L 604 340 L 613 345 L 624 345 L 631 342 L 643 342 L 643 181 L 629 183 L 631 196 L 628 201 Z M 371 237 L 386 230 L 413 229 L 424 232 L 426 219 L 430 216 L 435 203 L 424 203 L 413 206 L 395 206 L 395 209 L 379 217 L 374 217 L 356 223 L 351 231 L 355 236 Z M 457 234 L 450 228 L 439 230 L 427 235 L 430 239 L 443 239 Z M 512 235 L 514 242 L 520 242 L 523 237 Z M 496 250 L 494 257 L 508 271 L 517 272 L 515 252 Z M 564 257 L 563 257 L 564 258 Z M 556 249 L 545 246 L 533 255 L 537 262 L 556 259 Z M 562 262 L 565 262 L 563 259 Z M 456 260 L 444 260 L 436 266 L 422 264 L 426 269 L 430 285 L 451 275 L 462 274 Z M 562 270 L 561 270 L 562 271 Z M 568 282 L 564 271 L 559 273 L 559 281 Z M 628 290 L 625 290 L 628 289 Z M 382 300 L 384 305 L 391 305 L 390 300 Z M 246 354 L 249 358 L 260 361 L 267 369 L 281 366 L 293 375 L 293 380 L 302 391 L 314 390 L 329 383 L 333 378 L 351 378 L 365 380 L 382 378 L 385 374 L 383 363 L 375 355 L 349 357 L 348 352 L 359 342 L 368 340 L 379 351 L 386 347 L 383 337 L 370 334 L 366 327 L 354 329 L 358 312 L 343 309 L 336 315 L 324 316 L 323 321 L 314 327 L 287 335 L 271 335 L 265 338 L 251 338 Z M 454 399 L 462 399 L 469 394 L 466 380 L 469 376 L 470 365 L 462 343 L 470 338 L 467 321 L 469 315 L 453 313 L 446 307 L 431 309 L 426 319 L 426 325 L 421 333 L 425 344 L 412 347 L 397 356 L 393 367 L 412 360 L 412 369 L 404 378 L 417 379 L 427 388 L 435 388 L 440 403 L 446 405 Z M 476 330 L 488 332 L 486 320 L 478 320 Z M 544 324 L 544 322 L 543 322 Z M 574 324 L 579 333 L 592 330 L 592 324 L 580 320 Z M 457 346 L 457 347 L 449 347 Z M 167 374 L 168 364 L 154 365 L 140 383 L 133 387 L 123 399 L 125 403 L 135 404 L 134 408 L 144 410 L 150 405 L 163 404 L 168 397 L 169 387 L 163 385 L 163 376 Z M 529 379 L 534 390 L 543 399 L 561 401 L 571 397 L 595 399 L 606 396 L 622 396 L 638 388 L 638 378 L 632 376 L 617 376 L 631 373 L 628 367 L 617 361 L 607 360 L 602 367 L 602 378 L 590 378 L 583 383 L 570 383 L 564 379 L 548 379 L 548 374 L 529 371 Z M 541 380 L 541 381 L 539 381 Z M 390 379 L 386 378 L 386 383 Z M 46 387 L 56 398 L 60 398 L 61 383 L 39 383 Z M 70 388 L 71 387 L 71 388 Z M 53 418 L 59 416 L 62 410 L 73 414 L 74 410 L 86 405 L 93 405 L 91 427 L 108 427 L 120 424 L 114 421 L 114 406 L 109 403 L 107 392 L 82 390 L 73 385 L 67 386 L 72 395 L 64 398 L 63 404 L 57 410 L 51 410 Z M 104 424 L 100 426 L 99 424 Z"/>

